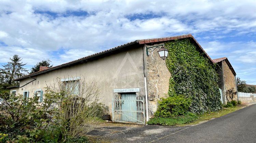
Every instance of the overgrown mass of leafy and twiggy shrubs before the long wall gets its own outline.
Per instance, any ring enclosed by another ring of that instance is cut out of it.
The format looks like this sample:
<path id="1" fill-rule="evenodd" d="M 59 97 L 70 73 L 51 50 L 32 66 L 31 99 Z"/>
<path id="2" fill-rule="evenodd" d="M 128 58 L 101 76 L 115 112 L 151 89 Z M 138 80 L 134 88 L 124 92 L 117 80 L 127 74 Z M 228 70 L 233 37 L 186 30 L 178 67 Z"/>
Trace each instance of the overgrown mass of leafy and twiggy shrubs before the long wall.
<path id="1" fill-rule="evenodd" d="M 97 103 L 96 82 L 80 83 L 79 94 L 62 88 L 62 82 L 47 87 L 42 103 L 36 95 L 3 98 L 0 142 L 88 142 L 86 133 L 99 123 L 103 104 Z"/>

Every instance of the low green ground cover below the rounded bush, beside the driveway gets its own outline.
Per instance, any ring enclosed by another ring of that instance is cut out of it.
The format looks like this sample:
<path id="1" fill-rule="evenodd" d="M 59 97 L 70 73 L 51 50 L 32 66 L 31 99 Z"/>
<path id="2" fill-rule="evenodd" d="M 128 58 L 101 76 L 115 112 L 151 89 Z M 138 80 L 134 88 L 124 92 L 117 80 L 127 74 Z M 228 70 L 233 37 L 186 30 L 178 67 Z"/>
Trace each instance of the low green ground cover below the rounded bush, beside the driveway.
<path id="1" fill-rule="evenodd" d="M 147 122 L 147 124 L 150 125 L 161 125 L 161 126 L 174 126 L 174 125 L 180 125 L 180 124 L 186 124 L 194 122 L 198 119 L 198 116 L 193 113 L 186 113 L 182 116 L 176 116 L 176 117 L 155 117 L 151 118 L 150 121 Z"/>

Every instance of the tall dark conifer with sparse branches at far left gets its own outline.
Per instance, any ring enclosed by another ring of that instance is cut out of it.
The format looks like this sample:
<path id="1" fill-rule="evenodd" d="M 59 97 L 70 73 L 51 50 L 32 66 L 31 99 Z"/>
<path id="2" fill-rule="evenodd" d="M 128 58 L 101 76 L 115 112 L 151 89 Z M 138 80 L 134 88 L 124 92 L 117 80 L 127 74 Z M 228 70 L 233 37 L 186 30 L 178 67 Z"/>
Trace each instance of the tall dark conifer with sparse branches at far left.
<path id="1" fill-rule="evenodd" d="M 8 64 L 3 65 L 1 75 L 4 77 L 5 83 L 13 85 L 13 80 L 24 76 L 28 73 L 28 70 L 24 68 L 26 64 L 23 64 L 22 59 L 17 54 L 10 58 L 10 60 Z"/>

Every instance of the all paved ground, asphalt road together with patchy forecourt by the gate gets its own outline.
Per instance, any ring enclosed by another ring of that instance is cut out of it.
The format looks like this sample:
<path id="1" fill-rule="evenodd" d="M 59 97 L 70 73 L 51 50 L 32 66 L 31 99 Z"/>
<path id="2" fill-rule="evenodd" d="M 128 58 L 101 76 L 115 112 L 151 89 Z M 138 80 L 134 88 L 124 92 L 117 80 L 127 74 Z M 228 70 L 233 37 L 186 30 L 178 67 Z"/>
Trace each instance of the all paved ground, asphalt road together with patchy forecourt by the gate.
<path id="1" fill-rule="evenodd" d="M 195 126 L 99 127 L 93 142 L 123 143 L 256 143 L 256 104 Z"/>

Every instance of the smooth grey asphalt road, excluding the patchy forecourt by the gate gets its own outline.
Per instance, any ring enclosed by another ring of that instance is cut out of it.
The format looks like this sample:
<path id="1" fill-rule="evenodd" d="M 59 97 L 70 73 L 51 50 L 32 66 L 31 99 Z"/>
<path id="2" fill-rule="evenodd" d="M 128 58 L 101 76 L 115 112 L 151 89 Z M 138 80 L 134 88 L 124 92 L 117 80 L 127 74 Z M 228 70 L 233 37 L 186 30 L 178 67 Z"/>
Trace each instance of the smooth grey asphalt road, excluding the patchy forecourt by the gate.
<path id="1" fill-rule="evenodd" d="M 256 104 L 152 142 L 256 143 Z"/>

